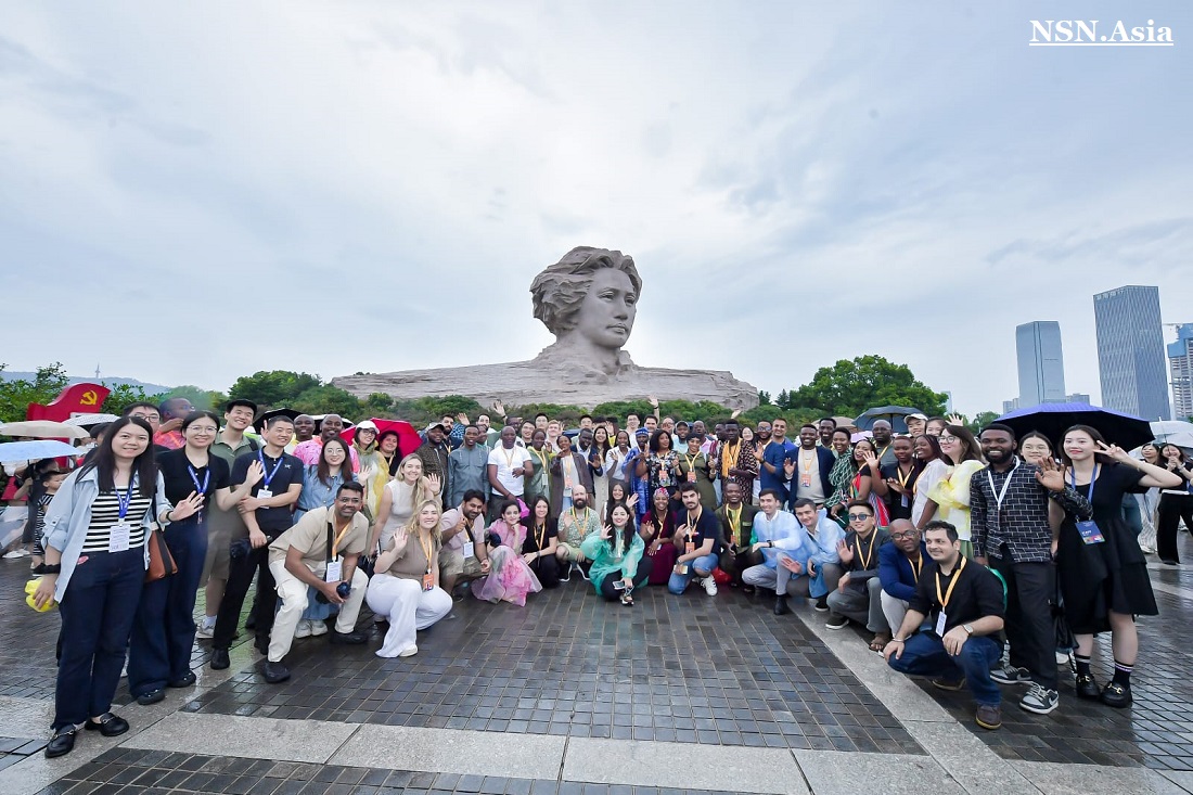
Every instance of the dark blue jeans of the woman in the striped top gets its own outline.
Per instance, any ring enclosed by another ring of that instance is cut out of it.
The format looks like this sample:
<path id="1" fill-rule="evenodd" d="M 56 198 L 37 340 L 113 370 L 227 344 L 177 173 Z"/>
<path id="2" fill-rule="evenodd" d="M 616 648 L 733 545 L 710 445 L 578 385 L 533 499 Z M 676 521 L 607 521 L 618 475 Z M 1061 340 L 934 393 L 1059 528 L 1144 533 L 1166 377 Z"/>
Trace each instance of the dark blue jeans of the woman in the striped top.
<path id="1" fill-rule="evenodd" d="M 55 731 L 112 708 L 146 579 L 144 547 L 86 553 L 62 596 Z M 81 559 L 80 559 L 81 560 Z"/>

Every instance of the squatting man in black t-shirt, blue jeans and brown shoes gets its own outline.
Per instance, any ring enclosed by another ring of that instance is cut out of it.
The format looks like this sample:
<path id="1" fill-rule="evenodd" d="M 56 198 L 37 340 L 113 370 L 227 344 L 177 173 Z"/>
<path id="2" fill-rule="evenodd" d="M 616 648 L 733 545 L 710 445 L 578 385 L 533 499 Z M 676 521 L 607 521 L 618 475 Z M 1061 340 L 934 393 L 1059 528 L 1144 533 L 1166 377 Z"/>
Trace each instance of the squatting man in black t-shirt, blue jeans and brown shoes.
<path id="1" fill-rule="evenodd" d="M 968 684 L 977 725 L 996 729 L 1002 726 L 1002 694 L 990 668 L 1002 647 L 990 635 L 1003 625 L 1002 584 L 987 567 L 962 557 L 953 525 L 929 522 L 923 536 L 932 563 L 920 572 L 903 624 L 883 655 L 896 671 L 937 677 L 932 684 L 938 688 Z M 925 618 L 932 628 L 916 631 Z"/>

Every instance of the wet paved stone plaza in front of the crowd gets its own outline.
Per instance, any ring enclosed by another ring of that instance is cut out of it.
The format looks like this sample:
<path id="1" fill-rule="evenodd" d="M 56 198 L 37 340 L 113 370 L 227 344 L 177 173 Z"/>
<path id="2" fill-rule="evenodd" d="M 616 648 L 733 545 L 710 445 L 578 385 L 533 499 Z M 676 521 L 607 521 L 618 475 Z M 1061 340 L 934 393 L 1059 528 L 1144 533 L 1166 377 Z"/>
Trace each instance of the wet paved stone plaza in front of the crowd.
<path id="1" fill-rule="evenodd" d="M 200 641 L 197 688 L 148 708 L 122 689 L 128 734 L 80 732 L 48 760 L 58 618 L 23 604 L 25 567 L 0 562 L 4 795 L 1193 791 L 1193 571 L 1151 567 L 1162 615 L 1141 622 L 1121 711 L 1078 702 L 1070 674 L 1047 716 L 1005 688 L 984 732 L 968 694 L 895 674 L 809 605 L 656 587 L 625 609 L 576 577 L 525 609 L 459 602 L 404 660 L 375 657 L 378 637 L 296 641 L 280 685 L 247 637 L 221 672 Z"/>

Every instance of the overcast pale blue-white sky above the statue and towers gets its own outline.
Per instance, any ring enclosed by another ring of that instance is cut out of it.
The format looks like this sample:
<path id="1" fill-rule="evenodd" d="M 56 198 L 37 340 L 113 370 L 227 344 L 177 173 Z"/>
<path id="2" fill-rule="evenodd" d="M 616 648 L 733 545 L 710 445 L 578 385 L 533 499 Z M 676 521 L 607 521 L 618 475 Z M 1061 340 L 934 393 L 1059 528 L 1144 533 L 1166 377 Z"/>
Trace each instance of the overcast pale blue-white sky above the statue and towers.
<path id="1" fill-rule="evenodd" d="M 531 358 L 577 245 L 637 261 L 636 362 L 772 393 L 878 353 L 999 411 L 1058 320 L 1096 400 L 1094 292 L 1193 321 L 1188 4 L 4 5 L 11 370 Z"/>

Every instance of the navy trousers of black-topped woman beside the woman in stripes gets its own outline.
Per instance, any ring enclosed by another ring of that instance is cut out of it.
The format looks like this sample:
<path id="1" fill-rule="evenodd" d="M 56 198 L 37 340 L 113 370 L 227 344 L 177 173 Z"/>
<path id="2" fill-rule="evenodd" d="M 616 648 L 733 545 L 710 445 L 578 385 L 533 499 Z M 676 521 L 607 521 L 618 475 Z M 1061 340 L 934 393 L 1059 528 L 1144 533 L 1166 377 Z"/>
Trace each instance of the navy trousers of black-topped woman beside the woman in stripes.
<path id="1" fill-rule="evenodd" d="M 129 692 L 143 696 L 191 670 L 194 598 L 208 556 L 208 523 L 188 518 L 166 525 L 166 546 L 178 573 L 146 583 L 129 646 Z"/>

